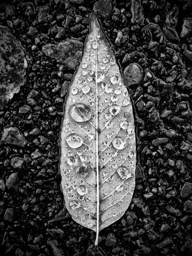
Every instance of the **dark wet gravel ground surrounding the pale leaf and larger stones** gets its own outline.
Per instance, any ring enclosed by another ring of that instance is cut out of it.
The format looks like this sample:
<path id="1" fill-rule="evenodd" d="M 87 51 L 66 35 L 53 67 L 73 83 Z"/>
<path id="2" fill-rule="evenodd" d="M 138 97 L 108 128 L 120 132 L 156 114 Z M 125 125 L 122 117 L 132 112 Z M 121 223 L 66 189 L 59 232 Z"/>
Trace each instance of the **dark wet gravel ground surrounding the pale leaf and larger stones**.
<path id="1" fill-rule="evenodd" d="M 0 112 L 1 134 L 13 126 L 27 140 L 24 147 L 0 141 L 0 254 L 190 256 L 192 34 L 181 38 L 180 33 L 183 19 L 191 17 L 191 1 L 143 0 L 143 25 L 131 22 L 127 0 L 116 1 L 111 15 L 100 18 L 122 70 L 131 63 L 143 70 L 142 82 L 129 86 L 137 132 L 136 188 L 124 216 L 100 232 L 97 248 L 93 245 L 95 232 L 72 221 L 65 209 L 58 166 L 66 93 L 60 91 L 61 85 L 72 79 L 74 70 L 66 66 L 60 70 L 56 60 L 42 53 L 42 47 L 71 37 L 84 43 L 94 3 L 7 0 L 0 4 L 0 24 L 10 27 L 28 60 L 26 84 Z M 179 7 L 176 31 L 180 41 L 171 39 L 170 30 L 162 42 L 162 32 L 154 26 L 142 30 L 148 20 L 155 23 L 155 19 L 163 30 L 174 4 Z M 43 5 L 49 6 L 49 12 L 42 22 L 38 20 L 38 7 Z M 77 15 L 81 17 L 76 23 Z M 72 20 L 65 25 L 69 16 Z M 62 29 L 59 33 L 57 26 L 65 28 L 64 33 Z M 124 36 L 119 43 L 118 30 Z M 30 106 L 27 113 L 19 112 L 23 105 Z M 20 168 L 13 167 L 13 157 L 23 160 Z M 10 177 L 13 173 L 17 174 Z M 8 178 L 11 181 L 4 188 Z"/>

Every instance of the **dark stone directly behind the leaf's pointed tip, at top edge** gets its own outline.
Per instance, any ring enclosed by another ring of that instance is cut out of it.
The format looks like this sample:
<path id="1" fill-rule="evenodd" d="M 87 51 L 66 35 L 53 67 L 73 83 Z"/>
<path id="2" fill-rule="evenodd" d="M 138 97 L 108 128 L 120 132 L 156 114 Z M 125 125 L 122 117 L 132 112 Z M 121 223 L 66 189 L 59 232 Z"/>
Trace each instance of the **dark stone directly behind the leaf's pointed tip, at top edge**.
<path id="1" fill-rule="evenodd" d="M 99 0 L 93 6 L 95 11 L 102 18 L 107 19 L 113 10 L 112 0 Z"/>

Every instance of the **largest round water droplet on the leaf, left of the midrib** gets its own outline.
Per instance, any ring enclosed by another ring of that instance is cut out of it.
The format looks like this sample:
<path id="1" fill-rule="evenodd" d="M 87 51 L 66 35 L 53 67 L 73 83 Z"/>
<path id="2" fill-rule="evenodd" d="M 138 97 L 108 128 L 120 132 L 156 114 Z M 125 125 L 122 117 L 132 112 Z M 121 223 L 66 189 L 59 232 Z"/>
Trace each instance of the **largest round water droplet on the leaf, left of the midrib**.
<path id="1" fill-rule="evenodd" d="M 83 103 L 73 104 L 69 113 L 75 122 L 86 122 L 91 118 L 91 109 Z"/>

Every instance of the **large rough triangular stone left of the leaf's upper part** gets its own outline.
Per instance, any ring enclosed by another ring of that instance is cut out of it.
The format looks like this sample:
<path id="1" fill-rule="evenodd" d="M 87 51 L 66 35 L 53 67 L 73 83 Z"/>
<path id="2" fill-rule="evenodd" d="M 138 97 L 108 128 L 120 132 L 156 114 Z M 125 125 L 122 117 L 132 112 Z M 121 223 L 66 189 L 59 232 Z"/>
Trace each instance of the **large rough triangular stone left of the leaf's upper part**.
<path id="1" fill-rule="evenodd" d="M 46 44 L 43 46 L 42 52 L 64 64 L 67 68 L 75 70 L 82 58 L 83 43 L 75 39 L 69 39 L 58 44 Z"/>

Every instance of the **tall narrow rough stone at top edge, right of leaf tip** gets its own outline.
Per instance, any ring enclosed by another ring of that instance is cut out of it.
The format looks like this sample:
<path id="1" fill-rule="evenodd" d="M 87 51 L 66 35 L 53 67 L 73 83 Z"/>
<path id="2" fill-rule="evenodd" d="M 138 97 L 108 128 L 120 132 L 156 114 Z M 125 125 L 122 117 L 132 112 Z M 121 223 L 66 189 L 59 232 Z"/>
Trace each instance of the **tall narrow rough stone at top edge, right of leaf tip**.
<path id="1" fill-rule="evenodd" d="M 131 0 L 131 13 L 131 22 L 142 26 L 144 23 L 144 12 L 140 0 Z"/>

